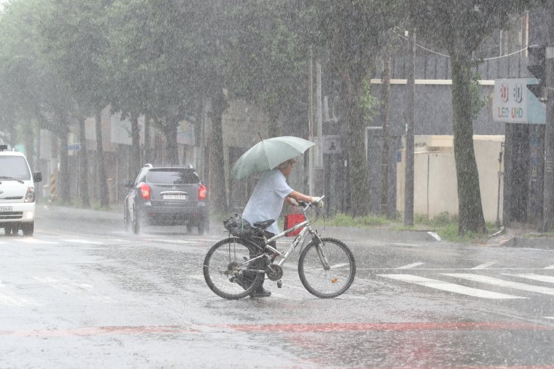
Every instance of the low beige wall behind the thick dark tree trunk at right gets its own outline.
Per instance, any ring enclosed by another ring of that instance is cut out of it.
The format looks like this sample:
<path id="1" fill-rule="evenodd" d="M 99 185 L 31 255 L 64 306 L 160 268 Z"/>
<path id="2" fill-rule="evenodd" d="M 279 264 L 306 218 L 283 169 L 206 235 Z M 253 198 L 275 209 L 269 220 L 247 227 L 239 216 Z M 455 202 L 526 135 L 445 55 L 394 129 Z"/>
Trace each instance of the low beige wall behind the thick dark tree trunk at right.
<path id="1" fill-rule="evenodd" d="M 474 136 L 481 204 L 485 221 L 497 219 L 499 152 L 503 136 Z M 405 151 L 397 163 L 396 208 L 404 212 Z M 500 188 L 502 209 L 503 181 Z M 429 218 L 458 214 L 458 183 L 452 136 L 416 136 L 414 156 L 414 213 Z M 499 215 L 502 219 L 502 213 Z"/>

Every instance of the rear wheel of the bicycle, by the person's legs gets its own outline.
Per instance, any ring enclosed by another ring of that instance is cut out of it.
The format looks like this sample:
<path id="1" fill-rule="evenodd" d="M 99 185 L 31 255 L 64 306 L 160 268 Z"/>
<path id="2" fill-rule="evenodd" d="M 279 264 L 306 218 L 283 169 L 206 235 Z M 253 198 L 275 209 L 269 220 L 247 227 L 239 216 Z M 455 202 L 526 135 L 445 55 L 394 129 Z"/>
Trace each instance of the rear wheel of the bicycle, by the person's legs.
<path id="1" fill-rule="evenodd" d="M 253 255 L 251 245 L 240 238 L 227 238 L 217 242 L 204 258 L 204 279 L 217 295 L 229 300 L 248 296 L 253 287 L 264 278 L 256 269 L 258 262 L 245 262 Z"/>

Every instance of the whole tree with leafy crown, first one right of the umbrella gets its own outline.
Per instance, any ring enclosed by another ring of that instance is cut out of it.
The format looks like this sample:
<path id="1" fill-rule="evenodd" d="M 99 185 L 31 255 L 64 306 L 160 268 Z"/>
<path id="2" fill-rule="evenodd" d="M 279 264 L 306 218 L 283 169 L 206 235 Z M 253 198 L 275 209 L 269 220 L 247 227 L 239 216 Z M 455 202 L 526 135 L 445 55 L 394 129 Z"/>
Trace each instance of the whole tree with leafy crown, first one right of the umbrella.
<path id="1" fill-rule="evenodd" d="M 364 83 L 375 69 L 389 31 L 402 22 L 400 1 L 307 1 L 300 31 L 330 69 L 341 77 L 347 125 L 346 150 L 351 213 L 368 214 L 368 165 L 364 143 L 366 123 L 361 99 Z"/>

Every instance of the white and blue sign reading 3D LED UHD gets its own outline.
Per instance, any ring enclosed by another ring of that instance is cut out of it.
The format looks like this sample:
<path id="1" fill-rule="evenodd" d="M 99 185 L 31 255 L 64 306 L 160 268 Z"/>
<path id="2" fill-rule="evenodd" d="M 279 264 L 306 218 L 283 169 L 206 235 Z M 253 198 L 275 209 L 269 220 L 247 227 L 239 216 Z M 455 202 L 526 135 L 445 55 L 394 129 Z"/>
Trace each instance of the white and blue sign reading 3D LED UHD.
<path id="1" fill-rule="evenodd" d="M 492 120 L 504 123 L 544 124 L 546 107 L 527 88 L 535 78 L 494 80 Z"/>

